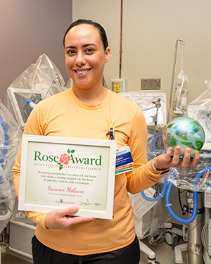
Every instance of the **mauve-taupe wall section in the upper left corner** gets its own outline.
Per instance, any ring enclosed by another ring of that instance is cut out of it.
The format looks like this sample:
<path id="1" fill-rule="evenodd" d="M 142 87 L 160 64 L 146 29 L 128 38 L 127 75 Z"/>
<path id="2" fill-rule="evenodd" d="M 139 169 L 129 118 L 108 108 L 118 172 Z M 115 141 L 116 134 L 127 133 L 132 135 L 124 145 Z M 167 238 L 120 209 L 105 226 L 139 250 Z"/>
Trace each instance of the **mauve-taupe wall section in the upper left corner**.
<path id="1" fill-rule="evenodd" d="M 8 86 L 46 54 L 68 80 L 63 34 L 72 22 L 72 0 L 0 1 L 0 97 Z"/>

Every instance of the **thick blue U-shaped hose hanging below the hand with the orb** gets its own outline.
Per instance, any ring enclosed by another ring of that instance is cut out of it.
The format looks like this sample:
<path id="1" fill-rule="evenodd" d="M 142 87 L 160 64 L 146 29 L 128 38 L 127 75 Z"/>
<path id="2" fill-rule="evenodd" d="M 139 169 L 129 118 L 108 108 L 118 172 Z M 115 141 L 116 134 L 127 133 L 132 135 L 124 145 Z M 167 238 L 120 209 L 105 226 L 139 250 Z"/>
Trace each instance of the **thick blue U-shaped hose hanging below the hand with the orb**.
<path id="1" fill-rule="evenodd" d="M 177 220 L 177 222 L 181 222 L 181 224 L 190 224 L 191 222 L 193 222 L 193 220 L 196 218 L 196 215 L 198 213 L 198 191 L 197 190 L 197 184 L 198 184 L 198 180 L 200 179 L 200 177 L 205 173 L 211 171 L 211 166 L 208 166 L 206 168 L 203 168 L 202 170 L 200 170 L 196 176 L 193 178 L 193 212 L 190 216 L 190 218 L 184 219 L 184 218 L 180 218 L 178 215 L 176 215 L 176 213 L 174 213 L 174 211 L 172 210 L 172 206 L 170 204 L 170 194 L 172 191 L 172 187 L 173 184 L 172 182 L 170 182 L 167 186 L 167 191 L 165 194 L 165 206 L 168 210 L 168 212 L 170 213 L 170 215 L 172 216 L 172 218 L 174 218 L 174 220 Z M 171 178 L 174 179 L 176 176 L 175 173 L 175 169 L 172 170 L 172 176 Z"/>

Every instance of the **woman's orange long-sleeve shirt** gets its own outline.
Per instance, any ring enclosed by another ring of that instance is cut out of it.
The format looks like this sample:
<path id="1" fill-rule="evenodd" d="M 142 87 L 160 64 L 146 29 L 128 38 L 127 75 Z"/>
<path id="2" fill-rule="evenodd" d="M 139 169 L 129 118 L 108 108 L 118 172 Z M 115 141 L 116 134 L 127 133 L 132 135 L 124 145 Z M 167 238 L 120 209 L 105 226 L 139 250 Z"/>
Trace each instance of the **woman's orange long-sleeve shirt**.
<path id="1" fill-rule="evenodd" d="M 46 229 L 46 213 L 27 212 L 37 223 L 36 237 L 44 245 L 75 255 L 87 255 L 120 249 L 135 237 L 133 210 L 127 192 L 136 194 L 151 187 L 163 175 L 151 171 L 147 162 L 147 127 L 139 106 L 107 90 L 106 99 L 89 106 L 77 99 L 72 89 L 38 103 L 30 114 L 24 134 L 57 137 L 108 139 L 115 127 L 117 147 L 129 146 L 134 170 L 115 176 L 113 220 L 95 219 L 70 230 Z M 13 167 L 15 191 L 19 194 L 21 145 Z"/>

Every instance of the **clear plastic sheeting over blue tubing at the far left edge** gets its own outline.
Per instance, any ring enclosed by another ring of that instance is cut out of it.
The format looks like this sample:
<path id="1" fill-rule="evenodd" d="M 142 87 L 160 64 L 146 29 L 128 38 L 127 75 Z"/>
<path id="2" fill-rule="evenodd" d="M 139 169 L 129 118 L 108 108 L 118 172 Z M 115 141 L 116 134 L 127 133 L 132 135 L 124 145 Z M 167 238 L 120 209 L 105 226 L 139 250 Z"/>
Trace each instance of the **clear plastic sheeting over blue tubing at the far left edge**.
<path id="1" fill-rule="evenodd" d="M 15 208 L 12 168 L 22 132 L 13 116 L 0 100 L 0 232 L 8 224 Z"/>

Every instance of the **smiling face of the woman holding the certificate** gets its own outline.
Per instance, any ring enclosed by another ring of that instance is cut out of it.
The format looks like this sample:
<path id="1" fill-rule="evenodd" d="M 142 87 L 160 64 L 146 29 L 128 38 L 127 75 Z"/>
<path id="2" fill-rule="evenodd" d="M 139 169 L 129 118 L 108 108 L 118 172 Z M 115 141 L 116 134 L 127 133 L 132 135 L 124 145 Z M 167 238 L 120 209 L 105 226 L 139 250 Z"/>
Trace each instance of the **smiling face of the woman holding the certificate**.
<path id="1" fill-rule="evenodd" d="M 92 89 L 103 86 L 103 69 L 110 58 L 110 49 L 103 49 L 98 29 L 80 24 L 65 37 L 65 64 L 73 87 Z"/>

